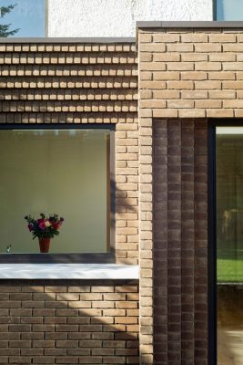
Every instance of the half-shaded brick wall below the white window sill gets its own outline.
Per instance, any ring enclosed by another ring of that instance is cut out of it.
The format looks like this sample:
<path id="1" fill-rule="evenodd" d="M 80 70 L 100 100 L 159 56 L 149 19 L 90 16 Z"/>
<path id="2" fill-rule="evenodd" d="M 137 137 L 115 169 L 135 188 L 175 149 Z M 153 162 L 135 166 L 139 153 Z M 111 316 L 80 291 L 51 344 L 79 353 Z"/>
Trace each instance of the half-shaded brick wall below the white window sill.
<path id="1" fill-rule="evenodd" d="M 138 364 L 138 284 L 0 286 L 0 328 L 1 364 Z"/>

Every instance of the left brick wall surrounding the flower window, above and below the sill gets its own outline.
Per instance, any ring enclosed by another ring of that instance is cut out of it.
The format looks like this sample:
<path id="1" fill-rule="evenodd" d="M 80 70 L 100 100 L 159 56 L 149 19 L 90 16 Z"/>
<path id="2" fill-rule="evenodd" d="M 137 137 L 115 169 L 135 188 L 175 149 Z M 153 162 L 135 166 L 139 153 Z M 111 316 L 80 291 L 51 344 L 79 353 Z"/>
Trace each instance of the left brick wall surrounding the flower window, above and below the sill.
<path id="1" fill-rule="evenodd" d="M 116 125 L 116 263 L 138 262 L 132 43 L 1 43 L 0 124 Z M 0 286 L 0 363 L 138 363 L 138 284 Z"/>

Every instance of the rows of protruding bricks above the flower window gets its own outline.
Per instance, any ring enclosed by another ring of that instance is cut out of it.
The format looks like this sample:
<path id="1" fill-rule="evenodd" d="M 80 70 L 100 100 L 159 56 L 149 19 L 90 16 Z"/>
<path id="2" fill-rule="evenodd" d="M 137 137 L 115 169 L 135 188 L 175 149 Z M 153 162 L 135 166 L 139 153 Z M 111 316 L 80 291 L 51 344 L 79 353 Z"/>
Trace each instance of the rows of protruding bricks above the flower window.
<path id="1" fill-rule="evenodd" d="M 137 118 L 133 44 L 3 44 L 0 52 L 1 122 Z"/>

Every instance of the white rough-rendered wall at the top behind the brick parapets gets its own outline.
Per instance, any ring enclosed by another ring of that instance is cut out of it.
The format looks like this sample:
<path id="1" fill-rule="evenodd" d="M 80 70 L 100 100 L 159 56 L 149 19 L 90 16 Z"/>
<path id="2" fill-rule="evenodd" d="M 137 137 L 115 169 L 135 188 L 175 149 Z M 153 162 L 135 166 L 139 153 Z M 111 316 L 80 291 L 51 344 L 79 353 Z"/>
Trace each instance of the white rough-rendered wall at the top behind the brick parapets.
<path id="1" fill-rule="evenodd" d="M 48 36 L 136 36 L 137 20 L 213 20 L 212 0 L 48 0 Z"/>

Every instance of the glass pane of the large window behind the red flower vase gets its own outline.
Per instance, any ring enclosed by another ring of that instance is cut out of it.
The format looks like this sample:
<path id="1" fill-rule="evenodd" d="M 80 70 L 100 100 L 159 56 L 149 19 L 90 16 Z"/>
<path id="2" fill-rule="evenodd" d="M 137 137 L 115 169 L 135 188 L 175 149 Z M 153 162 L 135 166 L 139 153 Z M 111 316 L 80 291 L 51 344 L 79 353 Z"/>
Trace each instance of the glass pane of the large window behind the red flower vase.
<path id="1" fill-rule="evenodd" d="M 26 214 L 59 214 L 51 253 L 104 253 L 109 214 L 109 131 L 0 131 L 0 252 L 38 253 Z"/>

